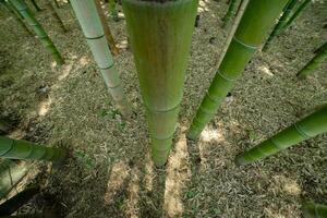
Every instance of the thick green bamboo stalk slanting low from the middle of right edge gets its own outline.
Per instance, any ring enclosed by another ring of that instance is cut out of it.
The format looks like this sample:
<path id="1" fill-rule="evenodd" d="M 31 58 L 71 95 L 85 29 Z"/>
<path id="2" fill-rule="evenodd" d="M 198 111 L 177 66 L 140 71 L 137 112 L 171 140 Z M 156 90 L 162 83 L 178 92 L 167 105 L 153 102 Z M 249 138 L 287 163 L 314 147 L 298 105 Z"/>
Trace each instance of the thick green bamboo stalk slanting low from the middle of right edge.
<path id="1" fill-rule="evenodd" d="M 235 162 L 245 165 L 263 159 L 325 132 L 327 132 L 327 105 L 259 145 L 239 155 Z"/>

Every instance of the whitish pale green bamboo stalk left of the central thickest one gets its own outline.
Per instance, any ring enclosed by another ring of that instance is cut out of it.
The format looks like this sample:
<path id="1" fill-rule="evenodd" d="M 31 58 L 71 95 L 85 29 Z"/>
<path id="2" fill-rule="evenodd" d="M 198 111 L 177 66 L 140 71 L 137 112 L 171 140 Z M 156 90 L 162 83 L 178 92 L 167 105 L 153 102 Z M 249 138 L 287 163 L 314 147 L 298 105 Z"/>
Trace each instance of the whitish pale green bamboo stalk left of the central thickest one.
<path id="1" fill-rule="evenodd" d="M 119 72 L 114 66 L 95 1 L 71 0 L 71 4 L 117 107 L 123 117 L 129 118 L 131 106 L 124 95 Z"/>

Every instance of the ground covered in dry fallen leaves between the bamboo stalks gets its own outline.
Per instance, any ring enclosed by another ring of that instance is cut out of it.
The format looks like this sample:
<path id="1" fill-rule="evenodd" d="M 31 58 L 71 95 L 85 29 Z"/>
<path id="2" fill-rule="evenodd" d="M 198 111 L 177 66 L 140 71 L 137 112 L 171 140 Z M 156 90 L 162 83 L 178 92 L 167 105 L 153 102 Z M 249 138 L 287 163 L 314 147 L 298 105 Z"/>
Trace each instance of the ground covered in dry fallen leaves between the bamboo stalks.
<path id="1" fill-rule="evenodd" d="M 130 49 L 116 58 L 135 111 L 133 119 L 123 121 L 69 4 L 59 10 L 68 33 L 48 11 L 36 13 L 65 59 L 62 66 L 1 11 L 0 117 L 16 126 L 13 136 L 71 150 L 63 166 L 37 164 L 39 173 L 29 180 L 56 194 L 65 217 L 291 218 L 301 217 L 303 201 L 327 203 L 326 134 L 265 161 L 241 168 L 233 164 L 240 152 L 327 101 L 326 64 L 307 80 L 295 77 L 327 40 L 327 2 L 308 7 L 268 52 L 257 52 L 201 140 L 185 140 L 227 36 L 220 28 L 226 9 L 222 0 L 201 2 L 166 171 L 155 169 L 149 158 Z M 108 21 L 120 47 L 125 47 L 124 20 Z"/>

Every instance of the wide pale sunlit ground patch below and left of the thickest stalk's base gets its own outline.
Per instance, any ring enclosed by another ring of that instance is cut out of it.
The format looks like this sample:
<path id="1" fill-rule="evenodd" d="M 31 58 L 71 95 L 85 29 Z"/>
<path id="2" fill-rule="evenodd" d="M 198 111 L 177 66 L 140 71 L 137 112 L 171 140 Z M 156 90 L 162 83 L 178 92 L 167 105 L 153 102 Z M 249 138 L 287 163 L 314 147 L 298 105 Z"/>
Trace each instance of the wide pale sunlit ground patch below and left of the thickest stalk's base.
<path id="1" fill-rule="evenodd" d="M 107 183 L 107 190 L 105 194 L 105 204 L 109 205 L 114 199 L 117 192 L 123 186 L 123 183 L 130 174 L 130 168 L 123 161 L 117 162 L 112 166 L 111 173 Z"/>

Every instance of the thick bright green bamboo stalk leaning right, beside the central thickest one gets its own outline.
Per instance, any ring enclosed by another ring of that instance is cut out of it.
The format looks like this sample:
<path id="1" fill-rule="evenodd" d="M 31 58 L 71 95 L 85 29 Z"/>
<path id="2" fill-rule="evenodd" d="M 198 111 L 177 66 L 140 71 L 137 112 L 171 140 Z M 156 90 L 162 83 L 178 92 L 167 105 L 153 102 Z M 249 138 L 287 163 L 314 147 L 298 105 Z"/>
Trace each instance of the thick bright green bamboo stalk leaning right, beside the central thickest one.
<path id="1" fill-rule="evenodd" d="M 214 81 L 193 119 L 187 133 L 190 140 L 196 140 L 215 116 L 286 3 L 287 0 L 250 0 Z"/>

